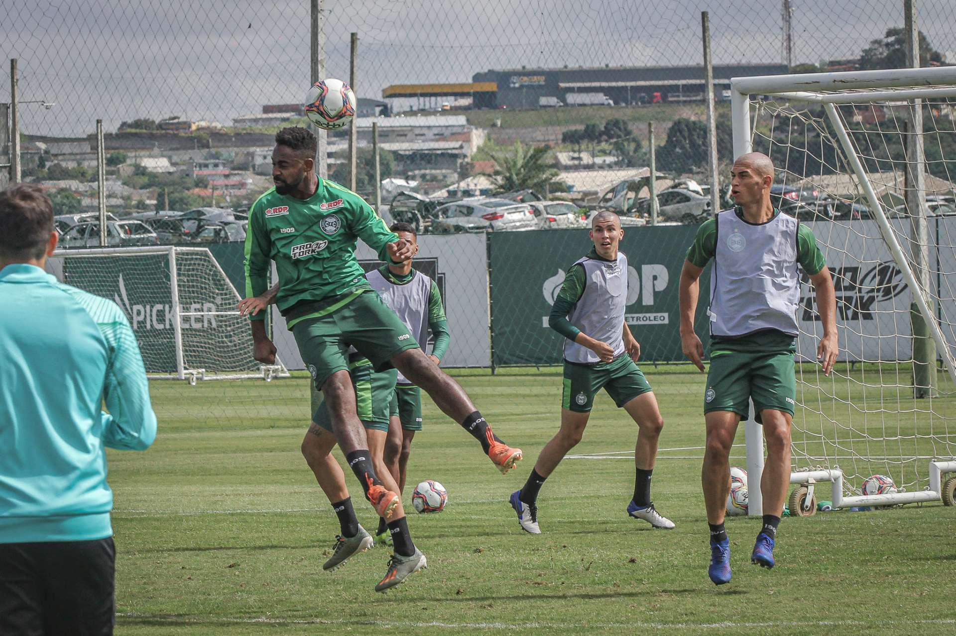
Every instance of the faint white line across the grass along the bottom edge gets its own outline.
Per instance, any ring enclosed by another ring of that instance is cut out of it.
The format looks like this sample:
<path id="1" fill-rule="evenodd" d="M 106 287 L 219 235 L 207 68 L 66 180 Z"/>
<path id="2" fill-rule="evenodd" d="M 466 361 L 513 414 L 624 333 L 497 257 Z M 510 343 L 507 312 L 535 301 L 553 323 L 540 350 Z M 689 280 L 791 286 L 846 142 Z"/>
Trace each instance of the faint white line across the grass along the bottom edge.
<path id="1" fill-rule="evenodd" d="M 644 623 L 641 621 L 628 621 L 626 623 L 552 623 L 552 622 L 529 622 L 529 623 L 445 623 L 442 621 L 376 621 L 376 620 L 325 620 L 325 619 L 293 619 L 278 616 L 261 616 L 257 618 L 240 617 L 205 617 L 205 616 L 181 616 L 170 614 L 141 614 L 139 612 L 117 612 L 117 617 L 123 618 L 143 618 L 151 621 L 165 621 L 169 624 L 189 625 L 191 623 L 208 624 L 218 623 L 221 625 L 235 624 L 266 624 L 266 625 L 371 625 L 377 627 L 444 627 L 444 628 L 464 628 L 464 629 L 534 629 L 534 628 L 553 628 L 570 629 L 575 627 L 592 628 L 644 628 L 644 629 L 686 629 L 686 628 L 732 628 L 732 629 L 752 629 L 769 627 L 869 627 L 869 626 L 887 626 L 895 625 L 905 627 L 910 625 L 956 625 L 956 619 L 923 619 L 912 621 L 765 621 L 765 622 L 736 622 L 726 621 L 720 623 Z"/>

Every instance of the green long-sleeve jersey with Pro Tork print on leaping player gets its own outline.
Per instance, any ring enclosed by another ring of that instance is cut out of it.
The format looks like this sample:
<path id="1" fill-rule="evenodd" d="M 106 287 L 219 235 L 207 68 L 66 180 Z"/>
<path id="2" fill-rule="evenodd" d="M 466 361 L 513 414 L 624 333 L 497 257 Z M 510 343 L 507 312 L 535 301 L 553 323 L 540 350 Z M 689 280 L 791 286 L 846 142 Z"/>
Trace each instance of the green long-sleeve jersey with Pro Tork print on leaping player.
<path id="1" fill-rule="evenodd" d="M 348 188 L 319 179 L 315 194 L 304 201 L 268 190 L 249 213 L 246 296 L 266 290 L 275 261 L 280 284 L 275 302 L 287 319 L 341 307 L 372 289 L 355 256 L 357 239 L 393 263 L 385 245 L 399 237 Z M 263 320 L 265 312 L 250 318 Z"/>

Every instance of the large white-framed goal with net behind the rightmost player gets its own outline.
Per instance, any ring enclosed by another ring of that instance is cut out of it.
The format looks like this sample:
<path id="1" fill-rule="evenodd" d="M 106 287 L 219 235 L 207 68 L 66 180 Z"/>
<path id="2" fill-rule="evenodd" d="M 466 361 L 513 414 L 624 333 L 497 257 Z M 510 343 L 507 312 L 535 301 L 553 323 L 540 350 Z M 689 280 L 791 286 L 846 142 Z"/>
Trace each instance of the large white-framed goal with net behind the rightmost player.
<path id="1" fill-rule="evenodd" d="M 773 160 L 773 202 L 812 226 L 834 275 L 839 358 L 815 364 L 822 333 L 804 277 L 798 309 L 791 498 L 813 514 L 940 500 L 956 477 L 956 67 L 738 77 L 734 156 Z M 940 371 L 940 372 L 937 372 Z M 750 484 L 763 435 L 745 426 Z M 885 475 L 887 492 L 862 494 Z M 794 505 L 797 510 L 793 510 Z M 749 514 L 761 515 L 759 487 Z"/>

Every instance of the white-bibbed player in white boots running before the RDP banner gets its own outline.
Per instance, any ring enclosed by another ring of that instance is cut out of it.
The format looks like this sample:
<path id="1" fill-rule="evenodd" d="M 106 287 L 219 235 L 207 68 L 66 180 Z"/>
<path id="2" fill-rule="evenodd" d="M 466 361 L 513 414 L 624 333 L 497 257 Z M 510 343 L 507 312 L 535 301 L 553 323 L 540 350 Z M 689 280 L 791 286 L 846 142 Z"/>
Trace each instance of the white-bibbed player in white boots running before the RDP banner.
<path id="1" fill-rule="evenodd" d="M 541 534 L 537 495 L 557 464 L 581 440 L 595 394 L 604 389 L 618 408 L 638 425 L 634 450 L 634 497 L 627 514 L 655 528 L 670 529 L 651 502 L 651 473 L 657 457 L 663 418 L 657 398 L 635 364 L 641 345 L 624 323 L 627 303 L 627 257 L 619 251 L 624 231 L 613 212 L 599 212 L 591 221 L 594 247 L 568 269 L 554 300 L 548 324 L 567 338 L 564 343 L 564 392 L 561 429 L 541 451 L 524 488 L 511 494 L 511 507 L 526 532 Z"/>

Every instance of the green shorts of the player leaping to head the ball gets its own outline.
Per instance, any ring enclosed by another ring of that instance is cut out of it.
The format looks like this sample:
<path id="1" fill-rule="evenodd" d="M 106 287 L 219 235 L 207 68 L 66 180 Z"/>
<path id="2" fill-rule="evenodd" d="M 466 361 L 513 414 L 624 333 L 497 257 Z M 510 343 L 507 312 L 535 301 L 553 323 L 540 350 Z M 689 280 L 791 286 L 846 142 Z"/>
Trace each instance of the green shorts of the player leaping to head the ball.
<path id="1" fill-rule="evenodd" d="M 374 291 L 331 313 L 300 320 L 293 326 L 293 335 L 317 389 L 336 371 L 348 371 L 349 345 L 368 358 L 375 371 L 391 369 L 392 358 L 419 347 L 399 316 Z"/>

